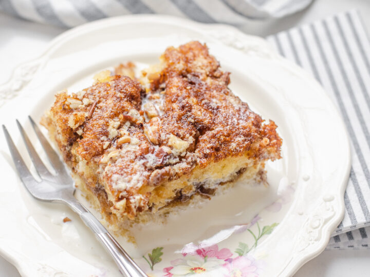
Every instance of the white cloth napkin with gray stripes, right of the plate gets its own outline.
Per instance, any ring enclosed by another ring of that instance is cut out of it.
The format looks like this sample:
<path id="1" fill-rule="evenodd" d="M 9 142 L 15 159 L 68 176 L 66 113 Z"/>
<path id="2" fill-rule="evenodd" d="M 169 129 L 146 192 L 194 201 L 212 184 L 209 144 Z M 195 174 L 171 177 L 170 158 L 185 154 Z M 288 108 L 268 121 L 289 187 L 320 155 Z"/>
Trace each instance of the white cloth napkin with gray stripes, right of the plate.
<path id="1" fill-rule="evenodd" d="M 340 13 L 267 39 L 322 84 L 337 105 L 351 140 L 352 168 L 344 194 L 345 215 L 328 249 L 368 247 L 370 41 L 360 15 L 356 10 Z"/>

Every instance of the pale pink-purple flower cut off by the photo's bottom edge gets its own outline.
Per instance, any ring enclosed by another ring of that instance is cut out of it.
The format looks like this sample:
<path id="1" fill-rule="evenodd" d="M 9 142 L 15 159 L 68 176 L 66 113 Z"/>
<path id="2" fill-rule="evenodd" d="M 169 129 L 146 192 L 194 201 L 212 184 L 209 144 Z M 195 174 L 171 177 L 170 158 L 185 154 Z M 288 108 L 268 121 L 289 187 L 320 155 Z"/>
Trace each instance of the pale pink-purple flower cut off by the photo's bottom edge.
<path id="1" fill-rule="evenodd" d="M 229 259 L 223 267 L 228 270 L 225 275 L 227 277 L 258 277 L 260 275 L 258 264 L 249 255 Z"/>

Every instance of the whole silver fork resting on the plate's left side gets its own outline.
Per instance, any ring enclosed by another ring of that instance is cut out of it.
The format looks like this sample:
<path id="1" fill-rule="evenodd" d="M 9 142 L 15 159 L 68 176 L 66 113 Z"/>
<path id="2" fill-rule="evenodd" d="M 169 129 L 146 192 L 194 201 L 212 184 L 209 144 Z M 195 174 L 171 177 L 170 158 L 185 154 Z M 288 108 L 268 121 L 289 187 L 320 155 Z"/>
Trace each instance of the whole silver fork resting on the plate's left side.
<path id="1" fill-rule="evenodd" d="M 3 125 L 4 134 L 9 146 L 11 156 L 13 158 L 15 168 L 20 176 L 23 184 L 27 190 L 38 200 L 46 202 L 63 203 L 70 207 L 73 211 L 78 213 L 82 221 L 87 227 L 91 229 L 104 245 L 105 249 L 112 255 L 120 272 L 126 276 L 146 276 L 140 267 L 131 259 L 125 250 L 118 244 L 113 236 L 105 229 L 105 227 L 91 214 L 80 202 L 77 201 L 75 196 L 75 188 L 73 181 L 65 169 L 64 164 L 60 161 L 59 155 L 52 149 L 45 136 L 40 131 L 39 127 L 35 124 L 30 116 L 32 127 L 43 146 L 48 160 L 57 172 L 56 175 L 51 174 L 41 161 L 40 156 L 32 146 L 28 135 L 23 129 L 22 125 L 16 120 L 18 128 L 20 129 L 23 140 L 26 144 L 31 161 L 38 172 L 41 181 L 36 181 L 30 171 L 28 170 L 21 154 L 16 149 L 8 130 Z"/>

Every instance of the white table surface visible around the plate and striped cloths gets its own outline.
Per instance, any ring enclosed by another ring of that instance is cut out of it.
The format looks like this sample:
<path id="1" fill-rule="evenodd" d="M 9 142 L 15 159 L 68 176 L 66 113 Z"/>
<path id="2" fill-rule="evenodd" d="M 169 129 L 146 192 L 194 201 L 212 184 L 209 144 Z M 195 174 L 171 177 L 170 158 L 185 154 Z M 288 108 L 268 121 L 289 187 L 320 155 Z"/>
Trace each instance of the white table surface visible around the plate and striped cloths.
<path id="1" fill-rule="evenodd" d="M 266 36 L 354 8 L 361 12 L 364 24 L 370 31 L 368 0 L 314 0 L 309 8 L 300 13 L 283 19 L 251 21 L 241 29 L 249 34 Z M 0 84 L 8 80 L 16 65 L 39 56 L 51 39 L 63 31 L 0 12 Z M 326 250 L 305 264 L 295 276 L 369 276 L 369 258 L 370 250 Z M 19 276 L 14 266 L 1 256 L 0 276 Z"/>

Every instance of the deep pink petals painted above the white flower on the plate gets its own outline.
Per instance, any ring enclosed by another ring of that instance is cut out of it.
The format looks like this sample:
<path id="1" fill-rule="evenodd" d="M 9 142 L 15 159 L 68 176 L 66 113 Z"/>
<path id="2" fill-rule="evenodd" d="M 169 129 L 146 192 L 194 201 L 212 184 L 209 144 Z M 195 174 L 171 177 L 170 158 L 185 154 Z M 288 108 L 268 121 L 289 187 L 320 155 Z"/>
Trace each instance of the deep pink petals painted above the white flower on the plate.
<path id="1" fill-rule="evenodd" d="M 195 246 L 194 244 L 189 244 L 182 249 L 182 255 L 198 255 L 201 258 L 217 258 L 219 260 L 226 260 L 232 256 L 230 249 L 222 248 L 218 250 L 218 245 L 214 244 L 207 247 Z"/>

